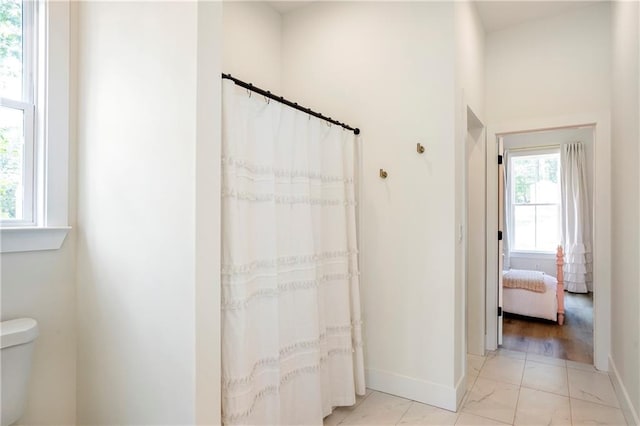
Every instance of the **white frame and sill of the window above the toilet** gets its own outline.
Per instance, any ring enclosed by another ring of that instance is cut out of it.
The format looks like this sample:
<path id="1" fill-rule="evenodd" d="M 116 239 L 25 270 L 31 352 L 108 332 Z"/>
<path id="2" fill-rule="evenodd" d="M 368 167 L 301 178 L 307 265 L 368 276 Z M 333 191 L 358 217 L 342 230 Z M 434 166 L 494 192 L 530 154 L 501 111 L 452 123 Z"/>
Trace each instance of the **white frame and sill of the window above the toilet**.
<path id="1" fill-rule="evenodd" d="M 33 213 L 29 222 L 0 223 L 2 253 L 59 249 L 71 230 L 68 225 L 70 3 L 23 0 L 23 4 L 32 7 L 31 60 L 32 70 L 37 74 L 30 76 L 33 83 L 28 88 L 35 105 L 31 160 Z M 25 22 L 23 27 L 27 25 Z M 25 86 L 23 91 L 26 89 Z"/>

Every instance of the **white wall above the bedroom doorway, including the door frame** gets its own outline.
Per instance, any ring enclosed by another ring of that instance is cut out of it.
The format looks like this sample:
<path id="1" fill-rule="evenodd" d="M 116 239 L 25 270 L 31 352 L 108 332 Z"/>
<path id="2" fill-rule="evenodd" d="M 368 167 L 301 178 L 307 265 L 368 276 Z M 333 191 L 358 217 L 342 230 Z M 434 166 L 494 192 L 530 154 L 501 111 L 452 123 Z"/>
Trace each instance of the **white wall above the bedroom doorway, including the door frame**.
<path id="1" fill-rule="evenodd" d="M 608 369 L 611 289 L 610 10 L 598 2 L 486 36 L 487 235 L 497 232 L 496 134 L 595 124 L 595 364 Z M 487 330 L 497 329 L 497 241 L 487 240 Z M 490 268 L 493 268 L 492 271 Z M 492 288 L 493 287 L 493 288 Z M 488 347 L 495 345 L 488 336 Z"/>

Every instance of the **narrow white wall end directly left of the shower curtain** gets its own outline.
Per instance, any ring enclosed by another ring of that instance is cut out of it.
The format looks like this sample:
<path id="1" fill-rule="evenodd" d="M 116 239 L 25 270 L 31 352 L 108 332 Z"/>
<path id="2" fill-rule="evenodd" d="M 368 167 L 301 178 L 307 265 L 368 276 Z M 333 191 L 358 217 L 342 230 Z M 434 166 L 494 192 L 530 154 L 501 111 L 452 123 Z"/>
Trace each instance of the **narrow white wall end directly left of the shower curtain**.
<path id="1" fill-rule="evenodd" d="M 221 422 L 220 261 L 222 6 L 198 3 L 196 95 L 195 417 Z M 212 76 L 215 76 L 213 78 Z"/>

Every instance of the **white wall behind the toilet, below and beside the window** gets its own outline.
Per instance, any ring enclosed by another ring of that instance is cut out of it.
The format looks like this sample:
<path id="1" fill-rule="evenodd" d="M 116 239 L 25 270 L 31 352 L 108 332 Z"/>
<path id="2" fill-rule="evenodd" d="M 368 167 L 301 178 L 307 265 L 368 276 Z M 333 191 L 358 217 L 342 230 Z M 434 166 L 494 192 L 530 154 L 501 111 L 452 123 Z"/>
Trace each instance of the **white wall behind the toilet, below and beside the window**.
<path id="1" fill-rule="evenodd" d="M 64 2 L 52 13 L 71 13 Z M 71 40 L 74 27 L 70 28 Z M 73 50 L 73 46 L 71 47 Z M 69 81 L 75 81 L 71 58 Z M 73 86 L 73 85 L 72 85 Z M 69 112 L 69 225 L 59 250 L 0 255 L 1 320 L 31 317 L 38 321 L 29 395 L 17 424 L 71 425 L 76 419 L 76 137 L 75 102 Z"/>

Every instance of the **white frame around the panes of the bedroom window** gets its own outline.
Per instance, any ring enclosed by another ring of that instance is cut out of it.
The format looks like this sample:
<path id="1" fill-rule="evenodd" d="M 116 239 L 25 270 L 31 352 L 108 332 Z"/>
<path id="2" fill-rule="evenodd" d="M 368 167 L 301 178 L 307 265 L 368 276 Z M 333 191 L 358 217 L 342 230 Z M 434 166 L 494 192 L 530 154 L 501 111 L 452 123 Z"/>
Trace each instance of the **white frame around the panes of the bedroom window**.
<path id="1" fill-rule="evenodd" d="M 509 237 L 509 255 L 511 257 L 549 257 L 555 256 L 556 249 L 550 250 L 535 250 L 535 249 L 527 249 L 522 250 L 518 249 L 515 246 L 515 233 L 516 233 L 516 222 L 515 222 L 515 207 L 516 206 L 557 206 L 558 208 L 558 221 L 562 220 L 562 201 L 559 200 L 558 203 L 516 203 L 515 202 L 515 184 L 514 184 L 514 168 L 513 168 L 513 160 L 521 157 L 537 157 L 541 155 L 550 155 L 557 154 L 558 155 L 558 180 L 561 178 L 562 173 L 562 165 L 560 163 L 560 146 L 550 146 L 550 147 L 531 147 L 531 148 L 522 148 L 522 149 L 514 149 L 509 150 L 509 170 L 511 180 L 511 191 L 509 197 L 509 219 L 510 219 L 510 228 L 508 232 Z M 560 185 L 560 182 L 558 182 Z M 537 218 L 537 212 L 536 212 Z M 558 243 L 560 242 L 561 232 L 558 230 Z"/>

